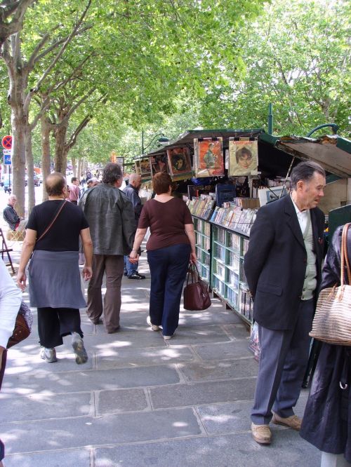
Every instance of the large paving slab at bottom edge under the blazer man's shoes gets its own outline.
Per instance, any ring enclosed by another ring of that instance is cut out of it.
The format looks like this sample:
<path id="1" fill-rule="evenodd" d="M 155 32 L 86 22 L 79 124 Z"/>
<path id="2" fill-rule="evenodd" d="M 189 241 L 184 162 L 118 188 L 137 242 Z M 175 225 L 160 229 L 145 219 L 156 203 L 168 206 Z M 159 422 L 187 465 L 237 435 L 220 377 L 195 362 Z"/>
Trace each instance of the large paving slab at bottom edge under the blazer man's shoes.
<path id="1" fill-rule="evenodd" d="M 318 467 L 319 464 L 317 449 L 289 430 L 279 431 L 270 446 L 258 445 L 251 433 L 238 433 L 95 449 L 95 467 Z"/>

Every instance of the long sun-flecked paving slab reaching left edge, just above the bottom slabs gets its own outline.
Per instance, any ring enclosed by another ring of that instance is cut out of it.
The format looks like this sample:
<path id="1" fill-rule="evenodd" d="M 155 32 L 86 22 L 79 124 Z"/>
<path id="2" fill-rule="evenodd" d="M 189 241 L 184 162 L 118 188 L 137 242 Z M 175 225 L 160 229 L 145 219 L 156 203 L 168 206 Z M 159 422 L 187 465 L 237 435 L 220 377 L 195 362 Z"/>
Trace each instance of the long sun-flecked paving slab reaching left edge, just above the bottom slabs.
<path id="1" fill-rule="evenodd" d="M 26 421 L 1 424 L 0 428 L 8 454 L 201 434 L 199 421 L 192 409 Z"/>

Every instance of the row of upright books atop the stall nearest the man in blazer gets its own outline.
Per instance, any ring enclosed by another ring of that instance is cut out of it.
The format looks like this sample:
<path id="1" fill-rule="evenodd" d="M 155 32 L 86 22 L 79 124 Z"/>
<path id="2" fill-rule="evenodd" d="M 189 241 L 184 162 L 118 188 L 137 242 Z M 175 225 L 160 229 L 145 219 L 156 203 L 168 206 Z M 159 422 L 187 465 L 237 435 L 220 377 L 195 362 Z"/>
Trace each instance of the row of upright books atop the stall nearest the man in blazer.
<path id="1" fill-rule="evenodd" d="M 211 222 L 249 235 L 251 226 L 256 219 L 256 209 L 241 210 L 239 206 L 218 208 L 213 211 Z"/>

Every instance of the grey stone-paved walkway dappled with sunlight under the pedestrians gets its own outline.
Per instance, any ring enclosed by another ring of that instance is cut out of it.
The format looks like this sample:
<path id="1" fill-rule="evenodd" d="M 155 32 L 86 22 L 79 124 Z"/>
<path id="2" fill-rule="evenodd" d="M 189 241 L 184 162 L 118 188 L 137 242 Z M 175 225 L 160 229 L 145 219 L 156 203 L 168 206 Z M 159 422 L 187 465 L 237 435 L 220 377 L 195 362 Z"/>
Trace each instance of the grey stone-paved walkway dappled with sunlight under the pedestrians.
<path id="1" fill-rule="evenodd" d="M 150 277 L 145 259 L 139 270 Z M 35 317 L 29 339 L 8 352 L 6 467 L 319 466 L 317 449 L 291 429 L 272 426 L 267 447 L 252 440 L 258 365 L 239 318 L 213 299 L 206 311 L 181 313 L 165 342 L 146 325 L 149 287 L 149 278 L 124 278 L 117 334 L 81 311 L 85 365 L 75 363 L 69 337 L 58 363 L 41 360 Z"/>

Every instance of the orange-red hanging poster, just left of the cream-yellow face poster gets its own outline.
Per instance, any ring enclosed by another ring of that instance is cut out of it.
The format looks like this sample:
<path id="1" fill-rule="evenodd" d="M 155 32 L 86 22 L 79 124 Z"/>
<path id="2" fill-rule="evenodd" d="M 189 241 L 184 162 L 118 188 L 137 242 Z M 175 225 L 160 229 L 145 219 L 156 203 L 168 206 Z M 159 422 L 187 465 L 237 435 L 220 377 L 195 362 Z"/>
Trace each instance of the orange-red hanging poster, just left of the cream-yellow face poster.
<path id="1" fill-rule="evenodd" d="M 224 175 L 223 138 L 194 139 L 194 163 L 197 177 Z"/>

